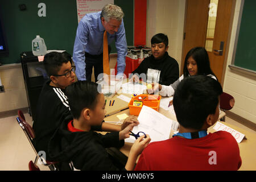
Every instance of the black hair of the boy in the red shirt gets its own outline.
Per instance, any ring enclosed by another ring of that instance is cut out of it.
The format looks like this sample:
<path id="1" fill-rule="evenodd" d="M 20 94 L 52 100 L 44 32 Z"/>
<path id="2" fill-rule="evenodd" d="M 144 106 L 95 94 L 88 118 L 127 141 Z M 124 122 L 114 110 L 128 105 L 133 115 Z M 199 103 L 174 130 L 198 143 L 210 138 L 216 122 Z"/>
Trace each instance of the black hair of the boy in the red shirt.
<path id="1" fill-rule="evenodd" d="M 208 115 L 215 113 L 221 93 L 220 83 L 209 76 L 184 78 L 174 93 L 177 121 L 185 128 L 200 130 Z"/>

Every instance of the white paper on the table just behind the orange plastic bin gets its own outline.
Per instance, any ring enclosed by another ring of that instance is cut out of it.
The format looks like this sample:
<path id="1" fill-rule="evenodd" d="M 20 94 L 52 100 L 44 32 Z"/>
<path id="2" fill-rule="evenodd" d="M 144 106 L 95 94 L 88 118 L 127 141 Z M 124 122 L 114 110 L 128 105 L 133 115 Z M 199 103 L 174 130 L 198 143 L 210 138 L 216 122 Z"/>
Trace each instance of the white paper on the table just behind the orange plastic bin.
<path id="1" fill-rule="evenodd" d="M 127 82 L 122 85 L 122 93 L 129 94 L 143 94 L 146 92 L 147 86 L 142 84 L 133 84 L 132 82 Z"/>

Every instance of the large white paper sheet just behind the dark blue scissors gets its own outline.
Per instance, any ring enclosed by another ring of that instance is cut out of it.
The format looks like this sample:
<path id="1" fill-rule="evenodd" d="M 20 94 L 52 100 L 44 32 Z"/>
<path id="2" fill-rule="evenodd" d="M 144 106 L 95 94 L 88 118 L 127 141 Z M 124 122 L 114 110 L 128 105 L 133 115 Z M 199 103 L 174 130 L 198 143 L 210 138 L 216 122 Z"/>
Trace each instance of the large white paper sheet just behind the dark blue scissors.
<path id="1" fill-rule="evenodd" d="M 165 117 L 158 111 L 147 106 L 142 106 L 138 116 L 139 125 L 134 126 L 133 133 L 143 131 L 150 135 L 151 142 L 166 140 L 170 138 L 171 129 L 177 130 L 177 122 Z M 134 143 L 135 137 L 130 136 L 125 142 Z"/>

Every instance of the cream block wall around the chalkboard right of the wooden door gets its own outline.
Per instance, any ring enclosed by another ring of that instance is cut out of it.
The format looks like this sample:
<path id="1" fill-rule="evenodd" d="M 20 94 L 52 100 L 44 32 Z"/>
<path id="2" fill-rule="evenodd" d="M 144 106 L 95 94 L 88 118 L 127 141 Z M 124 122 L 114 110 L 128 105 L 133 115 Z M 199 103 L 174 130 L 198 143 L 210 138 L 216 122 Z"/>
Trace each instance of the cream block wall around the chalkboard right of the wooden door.
<path id="1" fill-rule="evenodd" d="M 245 73 L 231 70 L 228 65 L 232 62 L 234 42 L 236 40 L 238 16 L 240 13 L 241 0 L 236 1 L 232 35 L 230 39 L 229 55 L 227 60 L 226 73 L 224 77 L 224 92 L 235 98 L 233 113 L 256 123 L 256 77 Z"/>

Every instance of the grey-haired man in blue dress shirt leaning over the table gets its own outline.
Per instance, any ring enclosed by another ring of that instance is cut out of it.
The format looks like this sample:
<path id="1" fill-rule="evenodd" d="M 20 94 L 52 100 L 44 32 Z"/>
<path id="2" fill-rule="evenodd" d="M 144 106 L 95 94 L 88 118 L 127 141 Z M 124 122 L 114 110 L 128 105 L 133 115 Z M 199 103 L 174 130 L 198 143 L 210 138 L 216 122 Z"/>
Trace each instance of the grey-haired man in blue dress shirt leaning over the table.
<path id="1" fill-rule="evenodd" d="M 78 80 L 89 80 L 94 67 L 95 80 L 103 73 L 103 35 L 108 32 L 108 44 L 115 40 L 117 48 L 117 74 L 125 71 L 127 43 L 123 25 L 123 11 L 116 5 L 105 5 L 98 13 L 86 14 L 79 22 L 73 49 Z M 110 48 L 110 46 L 109 46 Z M 110 51 L 109 51 L 110 52 Z"/>

